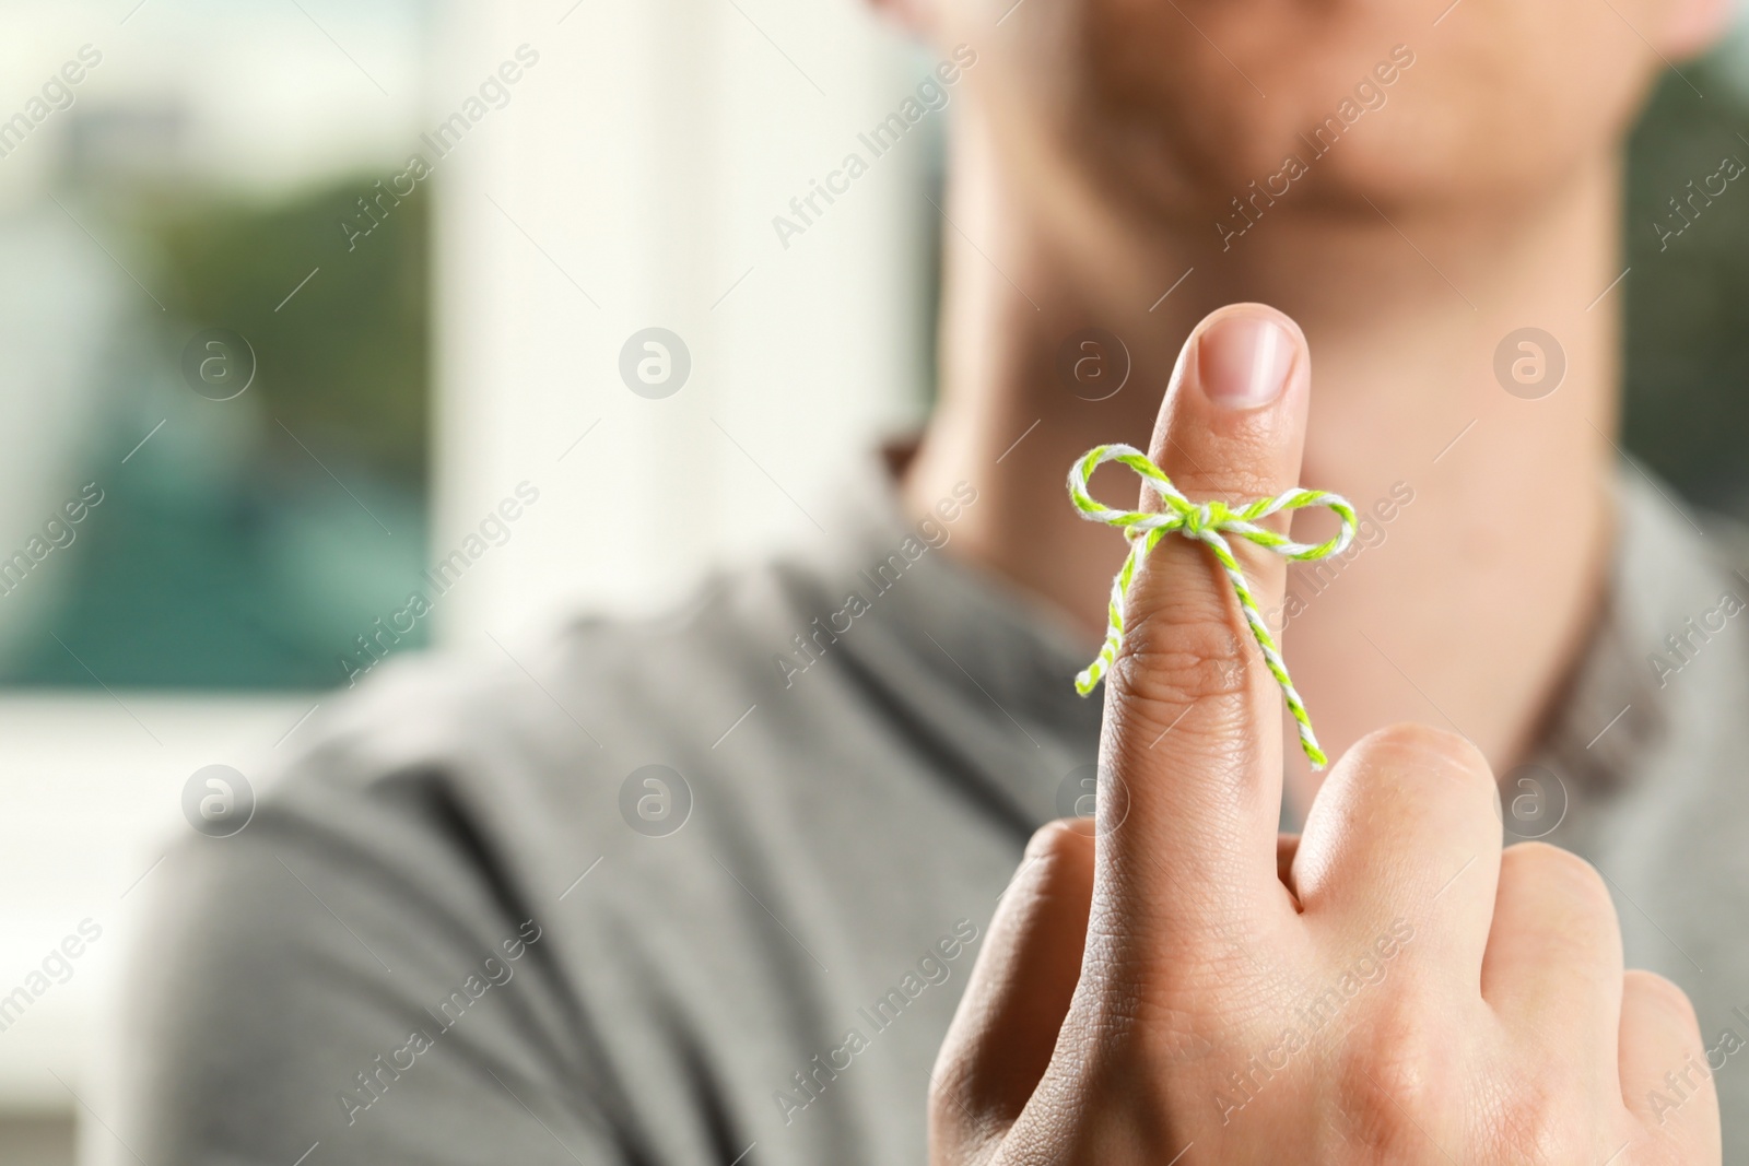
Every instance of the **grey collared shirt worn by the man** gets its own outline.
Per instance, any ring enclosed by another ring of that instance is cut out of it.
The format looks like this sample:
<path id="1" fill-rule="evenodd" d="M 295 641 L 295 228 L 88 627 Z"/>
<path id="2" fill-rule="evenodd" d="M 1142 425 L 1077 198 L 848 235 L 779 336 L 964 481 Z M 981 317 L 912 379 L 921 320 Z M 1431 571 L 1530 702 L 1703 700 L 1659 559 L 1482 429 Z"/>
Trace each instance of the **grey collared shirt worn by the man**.
<path id="1" fill-rule="evenodd" d="M 1100 704 L 1090 645 L 941 551 L 974 491 L 920 528 L 854 496 L 672 615 L 395 663 L 327 713 L 247 829 L 142 888 L 100 1156 L 925 1161 L 936 1049 Z M 1691 523 L 1623 472 L 1606 615 L 1504 792 L 1711 1047 L 1749 1040 L 1749 582 Z"/>

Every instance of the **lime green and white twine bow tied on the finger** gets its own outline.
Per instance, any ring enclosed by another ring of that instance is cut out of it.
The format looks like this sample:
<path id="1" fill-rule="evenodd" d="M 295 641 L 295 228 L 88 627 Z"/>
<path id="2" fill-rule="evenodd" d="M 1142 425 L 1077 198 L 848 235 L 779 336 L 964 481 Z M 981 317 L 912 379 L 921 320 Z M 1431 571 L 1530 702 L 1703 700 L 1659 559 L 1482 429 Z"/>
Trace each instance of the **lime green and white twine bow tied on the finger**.
<path id="1" fill-rule="evenodd" d="M 1121 462 L 1135 470 L 1142 484 L 1160 495 L 1165 507 L 1154 512 L 1114 510 L 1098 502 L 1088 493 L 1088 479 L 1093 477 L 1093 470 L 1107 462 Z M 1282 685 L 1282 696 L 1287 698 L 1287 711 L 1293 713 L 1294 722 L 1300 725 L 1300 745 L 1305 748 L 1312 767 L 1322 769 L 1327 759 L 1317 745 L 1317 736 L 1312 732 L 1312 717 L 1307 713 L 1300 692 L 1294 691 L 1294 682 L 1287 677 L 1287 664 L 1282 661 L 1282 652 L 1275 647 L 1275 636 L 1270 635 L 1270 628 L 1263 621 L 1263 612 L 1258 610 L 1258 600 L 1251 594 L 1251 584 L 1245 580 L 1245 572 L 1240 570 L 1238 559 L 1233 558 L 1233 547 L 1228 544 L 1226 535 L 1247 538 L 1296 563 L 1341 554 L 1354 540 L 1355 516 L 1348 500 L 1324 489 L 1301 489 L 1296 486 L 1273 498 L 1249 502 L 1237 510 L 1219 500 L 1191 502 L 1135 446 L 1095 446 L 1090 449 L 1069 468 L 1069 496 L 1074 500 L 1081 517 L 1090 523 L 1116 526 L 1130 540 L 1132 547 L 1130 556 L 1123 561 L 1123 568 L 1111 582 L 1111 615 L 1105 626 L 1105 645 L 1098 650 L 1098 657 L 1076 677 L 1076 692 L 1081 696 L 1091 692 L 1118 657 L 1118 647 L 1123 643 L 1123 605 L 1130 594 L 1130 580 L 1135 579 L 1135 568 L 1161 538 L 1177 531 L 1186 538 L 1207 544 L 1214 558 L 1221 561 L 1221 570 L 1226 572 L 1228 580 L 1233 584 L 1233 593 L 1238 594 L 1238 607 L 1245 612 L 1245 622 L 1251 624 L 1251 635 L 1258 638 L 1258 647 L 1263 649 L 1263 661 L 1270 666 L 1270 675 L 1275 677 L 1275 682 Z M 1341 530 L 1329 542 L 1315 545 L 1294 542 L 1266 526 L 1258 526 L 1259 519 L 1266 519 L 1280 510 L 1301 510 L 1315 505 L 1327 507 L 1341 519 Z"/>

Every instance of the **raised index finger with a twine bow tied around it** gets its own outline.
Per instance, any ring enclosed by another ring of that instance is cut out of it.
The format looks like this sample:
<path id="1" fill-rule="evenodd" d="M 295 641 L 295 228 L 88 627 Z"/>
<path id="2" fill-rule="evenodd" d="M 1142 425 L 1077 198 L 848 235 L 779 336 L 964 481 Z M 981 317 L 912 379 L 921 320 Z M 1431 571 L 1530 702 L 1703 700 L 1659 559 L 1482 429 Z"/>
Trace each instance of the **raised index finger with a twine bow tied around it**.
<path id="1" fill-rule="evenodd" d="M 1179 355 L 1149 458 L 1193 503 L 1280 495 L 1298 484 L 1310 379 L 1293 320 L 1263 304 L 1223 308 Z M 1160 503 L 1144 489 L 1142 509 Z M 1258 524 L 1286 533 L 1289 517 Z M 1280 605 L 1287 559 L 1221 538 L 1261 619 Z M 1265 664 L 1217 547 L 1163 535 L 1137 565 L 1107 677 L 1102 780 L 1119 780 L 1130 806 L 1100 844 L 1100 909 L 1123 916 L 1107 933 L 1184 942 L 1286 909 L 1282 689 Z"/>

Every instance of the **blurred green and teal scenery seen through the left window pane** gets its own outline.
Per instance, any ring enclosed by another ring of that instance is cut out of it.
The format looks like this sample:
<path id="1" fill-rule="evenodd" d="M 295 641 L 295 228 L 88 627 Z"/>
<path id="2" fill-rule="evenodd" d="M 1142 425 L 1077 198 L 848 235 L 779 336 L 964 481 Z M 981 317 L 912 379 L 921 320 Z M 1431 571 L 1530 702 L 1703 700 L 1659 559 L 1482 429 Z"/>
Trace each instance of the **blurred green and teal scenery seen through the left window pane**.
<path id="1" fill-rule="evenodd" d="M 152 257 L 143 281 L 166 311 L 142 313 L 105 362 L 112 428 L 89 475 L 107 496 L 70 547 L 52 617 L 0 661 L 0 682 L 331 687 L 338 657 L 360 656 L 355 636 L 418 586 L 429 196 L 348 248 L 339 224 L 373 182 L 268 203 L 82 191 L 91 219 Z M 255 379 L 234 400 L 182 378 L 182 348 L 210 327 L 254 348 Z M 422 622 L 399 647 L 425 635 Z"/>

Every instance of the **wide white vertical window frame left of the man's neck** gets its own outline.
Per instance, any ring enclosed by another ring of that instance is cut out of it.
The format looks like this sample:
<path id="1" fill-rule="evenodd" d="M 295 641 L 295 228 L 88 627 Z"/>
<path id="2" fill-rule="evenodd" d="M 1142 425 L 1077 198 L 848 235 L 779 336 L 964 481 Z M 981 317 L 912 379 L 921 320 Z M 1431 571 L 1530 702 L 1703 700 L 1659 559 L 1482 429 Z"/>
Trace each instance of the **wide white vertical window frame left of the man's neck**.
<path id="1" fill-rule="evenodd" d="M 439 70 L 453 103 L 540 52 L 437 185 L 434 558 L 540 489 L 446 600 L 448 642 L 651 607 L 812 531 L 834 467 L 922 400 L 936 142 L 908 136 L 787 248 L 771 219 L 930 61 L 859 0 L 572 2 L 455 5 Z M 693 357 L 665 400 L 617 372 L 649 325 Z"/>

